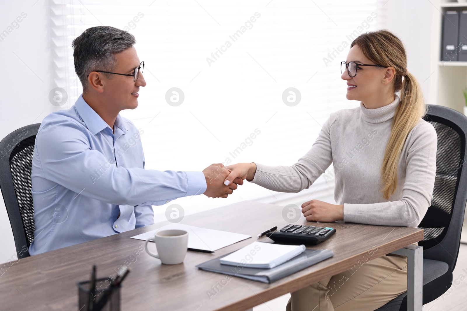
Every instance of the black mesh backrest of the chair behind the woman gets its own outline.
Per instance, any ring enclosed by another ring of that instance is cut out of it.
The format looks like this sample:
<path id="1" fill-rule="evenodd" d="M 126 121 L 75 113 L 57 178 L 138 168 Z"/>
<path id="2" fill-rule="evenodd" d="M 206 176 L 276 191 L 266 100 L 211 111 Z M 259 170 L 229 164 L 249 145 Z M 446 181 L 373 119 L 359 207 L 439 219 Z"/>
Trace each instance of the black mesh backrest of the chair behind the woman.
<path id="1" fill-rule="evenodd" d="M 467 117 L 447 107 L 427 106 L 424 119 L 438 134 L 438 150 L 432 205 L 418 226 L 425 231 L 418 245 L 424 248 L 424 258 L 444 261 L 453 270 L 467 200 Z"/>

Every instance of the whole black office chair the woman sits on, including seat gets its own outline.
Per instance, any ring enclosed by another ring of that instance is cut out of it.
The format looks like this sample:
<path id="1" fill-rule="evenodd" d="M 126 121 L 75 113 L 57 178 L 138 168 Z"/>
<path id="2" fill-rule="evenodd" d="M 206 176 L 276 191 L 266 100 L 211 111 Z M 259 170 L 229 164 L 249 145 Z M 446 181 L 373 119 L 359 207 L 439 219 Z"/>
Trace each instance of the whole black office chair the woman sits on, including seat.
<path id="1" fill-rule="evenodd" d="M 423 304 L 427 304 L 453 283 L 467 201 L 467 117 L 447 107 L 428 105 L 424 119 L 438 134 L 432 205 L 418 226 L 425 230 L 418 245 L 423 246 Z M 407 292 L 376 311 L 407 311 Z"/>

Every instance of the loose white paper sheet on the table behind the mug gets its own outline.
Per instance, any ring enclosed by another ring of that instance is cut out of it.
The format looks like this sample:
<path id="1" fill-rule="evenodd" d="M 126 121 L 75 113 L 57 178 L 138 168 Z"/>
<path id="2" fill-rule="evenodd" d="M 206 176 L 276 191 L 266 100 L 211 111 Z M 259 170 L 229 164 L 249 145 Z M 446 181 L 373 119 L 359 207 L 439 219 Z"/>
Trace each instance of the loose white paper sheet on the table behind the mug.
<path id="1" fill-rule="evenodd" d="M 188 232 L 188 249 L 208 252 L 213 252 L 251 237 L 251 235 L 242 235 L 240 233 L 199 228 L 181 223 L 171 223 L 170 225 L 142 233 L 141 235 L 135 235 L 131 238 L 146 241 L 147 238 L 153 236 L 157 231 L 166 229 L 185 230 Z"/>

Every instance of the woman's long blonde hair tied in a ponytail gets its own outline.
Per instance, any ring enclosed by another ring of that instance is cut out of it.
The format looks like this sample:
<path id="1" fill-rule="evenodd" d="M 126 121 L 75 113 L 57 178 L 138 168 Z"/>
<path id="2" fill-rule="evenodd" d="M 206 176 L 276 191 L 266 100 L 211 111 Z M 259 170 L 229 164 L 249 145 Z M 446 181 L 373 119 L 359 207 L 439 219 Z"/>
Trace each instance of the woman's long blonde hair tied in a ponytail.
<path id="1" fill-rule="evenodd" d="M 401 91 L 381 166 L 381 192 L 389 200 L 397 188 L 397 167 L 403 145 L 410 131 L 426 113 L 425 100 L 417 79 L 406 69 L 407 57 L 399 38 L 388 30 L 379 30 L 358 36 L 350 47 L 354 45 L 358 45 L 362 54 L 375 64 L 394 67 L 394 91 Z"/>

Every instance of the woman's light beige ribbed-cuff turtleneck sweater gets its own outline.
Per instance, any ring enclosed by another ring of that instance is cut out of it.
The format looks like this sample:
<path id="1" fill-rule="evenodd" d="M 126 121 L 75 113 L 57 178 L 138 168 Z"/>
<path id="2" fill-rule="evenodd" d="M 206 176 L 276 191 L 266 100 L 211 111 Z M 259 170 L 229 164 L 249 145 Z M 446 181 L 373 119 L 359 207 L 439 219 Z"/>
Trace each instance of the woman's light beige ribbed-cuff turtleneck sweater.
<path id="1" fill-rule="evenodd" d="M 381 166 L 399 97 L 381 108 L 360 107 L 333 112 L 311 149 L 292 166 L 256 163 L 251 181 L 280 192 L 300 192 L 333 163 L 334 199 L 344 204 L 344 221 L 417 227 L 433 197 L 437 135 L 420 119 L 403 146 L 397 188 L 383 198 Z M 311 198 L 312 199 L 312 198 Z"/>

